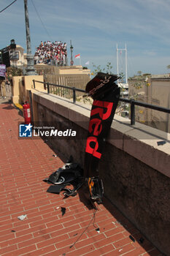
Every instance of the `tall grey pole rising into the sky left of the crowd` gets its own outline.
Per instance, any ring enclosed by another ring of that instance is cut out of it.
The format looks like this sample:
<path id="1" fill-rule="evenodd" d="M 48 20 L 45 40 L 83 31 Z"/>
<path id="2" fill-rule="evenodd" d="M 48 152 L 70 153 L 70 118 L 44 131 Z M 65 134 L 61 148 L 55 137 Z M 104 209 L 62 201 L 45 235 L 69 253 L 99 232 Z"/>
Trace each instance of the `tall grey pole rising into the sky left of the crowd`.
<path id="1" fill-rule="evenodd" d="M 31 39 L 29 31 L 29 17 L 28 17 L 28 4 L 27 0 L 24 0 L 25 19 L 26 19 L 26 48 L 27 48 L 27 67 L 26 75 L 37 75 L 34 69 L 34 57 L 31 54 Z"/>

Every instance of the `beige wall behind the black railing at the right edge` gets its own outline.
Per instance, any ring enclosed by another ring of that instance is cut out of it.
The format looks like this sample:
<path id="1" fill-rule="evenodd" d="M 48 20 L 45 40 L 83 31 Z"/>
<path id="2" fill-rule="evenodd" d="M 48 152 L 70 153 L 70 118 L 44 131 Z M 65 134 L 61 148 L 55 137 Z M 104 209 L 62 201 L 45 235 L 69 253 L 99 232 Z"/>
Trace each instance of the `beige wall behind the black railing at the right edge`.
<path id="1" fill-rule="evenodd" d="M 129 97 L 140 102 L 170 108 L 170 75 L 136 76 L 128 80 Z M 135 108 L 136 121 L 164 132 L 170 132 L 169 113 L 158 110 Z"/>

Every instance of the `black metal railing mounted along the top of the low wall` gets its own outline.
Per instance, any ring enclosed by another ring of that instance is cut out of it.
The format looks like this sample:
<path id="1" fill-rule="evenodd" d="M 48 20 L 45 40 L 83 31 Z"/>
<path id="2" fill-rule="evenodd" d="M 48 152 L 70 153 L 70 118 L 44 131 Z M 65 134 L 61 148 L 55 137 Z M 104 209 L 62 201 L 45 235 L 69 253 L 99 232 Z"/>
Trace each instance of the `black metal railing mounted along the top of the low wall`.
<path id="1" fill-rule="evenodd" d="M 63 88 L 63 89 L 72 90 L 73 91 L 73 102 L 74 103 L 76 102 L 76 91 L 81 91 L 81 92 L 85 93 L 85 90 L 78 89 L 78 88 L 75 88 L 75 87 L 60 86 L 60 85 L 56 85 L 54 83 L 41 82 L 41 81 L 37 81 L 37 80 L 33 80 L 34 89 L 36 88 L 35 87 L 35 82 L 36 83 L 43 83 L 45 89 L 46 89 L 46 85 L 47 85 L 47 93 L 48 94 L 50 93 L 50 86 L 56 86 L 56 87 L 60 87 L 60 88 Z M 141 106 L 141 107 L 144 107 L 144 108 L 150 108 L 152 110 L 158 110 L 158 111 L 170 114 L 170 109 L 169 108 L 163 108 L 163 107 L 160 107 L 160 106 L 157 106 L 157 105 L 151 105 L 151 104 L 148 104 L 148 103 L 139 102 L 139 101 L 136 101 L 134 99 L 124 99 L 124 98 L 120 97 L 119 100 L 120 100 L 120 102 L 126 102 L 126 103 L 131 105 L 131 125 L 135 124 L 135 105 Z"/>

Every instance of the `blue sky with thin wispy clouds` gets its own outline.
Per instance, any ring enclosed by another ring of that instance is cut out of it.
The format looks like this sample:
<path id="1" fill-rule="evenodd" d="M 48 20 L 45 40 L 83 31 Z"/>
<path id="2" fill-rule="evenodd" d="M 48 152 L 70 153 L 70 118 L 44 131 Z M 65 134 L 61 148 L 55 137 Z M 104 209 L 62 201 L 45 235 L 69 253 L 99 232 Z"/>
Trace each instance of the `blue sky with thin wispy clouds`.
<path id="1" fill-rule="evenodd" d="M 0 0 L 0 11 L 13 0 Z M 36 9 L 35 9 L 36 7 Z M 38 12 L 38 14 L 37 14 Z M 127 46 L 128 77 L 142 73 L 168 73 L 170 64 L 169 0 L 28 0 L 31 49 L 41 41 L 70 40 L 74 64 L 94 70 L 93 65 L 112 64 L 117 74 L 117 45 Z M 26 52 L 24 1 L 15 1 L 0 13 L 0 48 L 15 39 Z M 119 71 L 125 69 L 125 51 L 118 51 Z M 90 65 L 85 65 L 90 61 Z"/>

